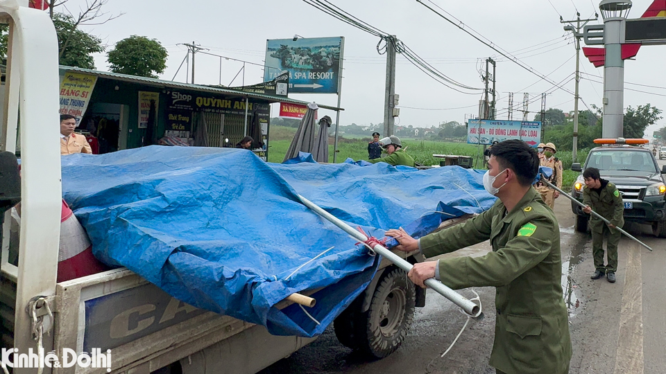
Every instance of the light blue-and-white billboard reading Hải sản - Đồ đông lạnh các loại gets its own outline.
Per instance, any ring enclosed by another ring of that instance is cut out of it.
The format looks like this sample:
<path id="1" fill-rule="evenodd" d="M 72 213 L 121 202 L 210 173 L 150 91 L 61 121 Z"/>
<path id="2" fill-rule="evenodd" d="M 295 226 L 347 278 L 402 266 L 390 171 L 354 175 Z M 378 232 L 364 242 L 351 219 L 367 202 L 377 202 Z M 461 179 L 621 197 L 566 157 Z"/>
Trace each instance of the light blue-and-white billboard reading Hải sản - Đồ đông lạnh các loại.
<path id="1" fill-rule="evenodd" d="M 541 123 L 531 121 L 470 120 L 467 125 L 467 142 L 487 144 L 493 141 L 520 139 L 531 147 L 541 142 Z"/>

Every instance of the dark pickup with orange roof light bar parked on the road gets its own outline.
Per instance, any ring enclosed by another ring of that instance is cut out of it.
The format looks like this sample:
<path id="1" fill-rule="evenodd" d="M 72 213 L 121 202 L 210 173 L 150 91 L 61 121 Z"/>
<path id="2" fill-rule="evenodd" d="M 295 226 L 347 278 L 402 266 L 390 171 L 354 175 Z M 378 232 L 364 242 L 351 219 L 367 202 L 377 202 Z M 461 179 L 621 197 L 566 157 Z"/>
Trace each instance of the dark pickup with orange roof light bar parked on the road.
<path id="1" fill-rule="evenodd" d="M 583 167 L 572 163 L 571 170 L 582 172 L 585 168 L 597 168 L 601 178 L 617 186 L 624 200 L 624 220 L 650 224 L 654 235 L 666 238 L 666 166 L 659 165 L 650 150 L 636 145 L 646 139 L 595 139 L 601 145 L 592 148 Z M 583 202 L 583 175 L 572 186 L 572 196 Z M 589 215 L 572 202 L 576 214 L 576 231 L 588 229 Z"/>

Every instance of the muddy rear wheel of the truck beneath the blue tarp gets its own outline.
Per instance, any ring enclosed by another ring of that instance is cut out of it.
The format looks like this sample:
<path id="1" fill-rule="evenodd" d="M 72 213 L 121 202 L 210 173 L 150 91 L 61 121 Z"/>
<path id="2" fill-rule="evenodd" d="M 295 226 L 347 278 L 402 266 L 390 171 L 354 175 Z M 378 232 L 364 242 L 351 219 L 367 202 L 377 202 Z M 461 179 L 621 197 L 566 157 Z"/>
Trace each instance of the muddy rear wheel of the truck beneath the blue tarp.
<path id="1" fill-rule="evenodd" d="M 391 355 L 411 328 L 415 287 L 404 271 L 386 271 L 367 312 L 360 312 L 363 298 L 359 297 L 335 319 L 333 327 L 340 343 L 376 359 Z"/>

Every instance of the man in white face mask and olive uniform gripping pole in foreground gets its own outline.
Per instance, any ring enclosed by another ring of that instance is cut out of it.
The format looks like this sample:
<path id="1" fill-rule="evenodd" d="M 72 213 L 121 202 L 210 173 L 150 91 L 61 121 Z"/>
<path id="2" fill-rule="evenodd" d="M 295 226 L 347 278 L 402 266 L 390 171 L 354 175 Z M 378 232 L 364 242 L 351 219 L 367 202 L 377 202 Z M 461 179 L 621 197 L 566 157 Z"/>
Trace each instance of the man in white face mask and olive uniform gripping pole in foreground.
<path id="1" fill-rule="evenodd" d="M 536 150 L 519 140 L 493 146 L 484 187 L 499 197 L 484 213 L 464 224 L 416 240 L 404 230 L 388 230 L 402 251 L 420 250 L 426 258 L 485 240 L 493 251 L 482 257 L 420 262 L 409 271 L 424 287 L 436 278 L 459 290 L 494 286 L 495 342 L 490 366 L 497 373 L 569 371 L 572 355 L 569 321 L 561 286 L 557 219 L 531 187 L 539 168 Z"/>

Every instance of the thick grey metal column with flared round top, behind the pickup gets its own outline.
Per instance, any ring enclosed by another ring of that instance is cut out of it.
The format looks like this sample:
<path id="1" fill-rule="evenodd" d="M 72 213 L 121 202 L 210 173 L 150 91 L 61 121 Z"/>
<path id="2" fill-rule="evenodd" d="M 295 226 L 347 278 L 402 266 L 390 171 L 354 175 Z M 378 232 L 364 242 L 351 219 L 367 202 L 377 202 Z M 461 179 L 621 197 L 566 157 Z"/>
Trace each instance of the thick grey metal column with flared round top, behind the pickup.
<path id="1" fill-rule="evenodd" d="M 631 10 L 631 0 L 601 0 L 604 18 L 604 118 L 601 136 L 621 138 L 624 134 L 624 60 L 622 42 L 624 24 Z"/>

